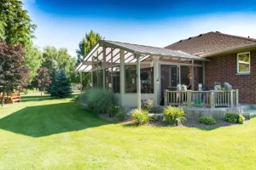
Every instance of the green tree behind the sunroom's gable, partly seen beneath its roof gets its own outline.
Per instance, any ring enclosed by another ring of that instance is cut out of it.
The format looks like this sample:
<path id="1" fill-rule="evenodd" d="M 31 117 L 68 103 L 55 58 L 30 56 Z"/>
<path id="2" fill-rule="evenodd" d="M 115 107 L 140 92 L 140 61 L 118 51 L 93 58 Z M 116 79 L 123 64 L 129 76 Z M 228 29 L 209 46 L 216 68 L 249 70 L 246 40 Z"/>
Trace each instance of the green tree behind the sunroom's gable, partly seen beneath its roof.
<path id="1" fill-rule="evenodd" d="M 77 49 L 78 54 L 78 64 L 84 59 L 84 57 L 90 53 L 90 50 L 96 45 L 96 43 L 104 39 L 99 33 L 95 31 L 90 31 L 89 33 L 85 33 L 85 37 L 83 37 L 82 41 L 79 42 L 79 49 Z M 75 75 L 76 82 L 80 82 L 79 74 Z M 82 84 L 86 86 L 91 81 L 90 72 L 82 73 Z"/>

